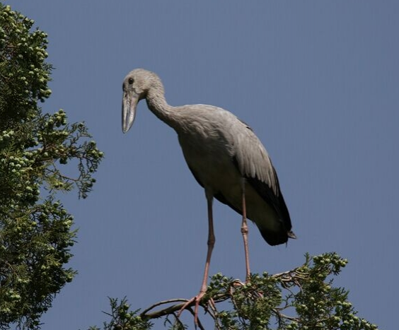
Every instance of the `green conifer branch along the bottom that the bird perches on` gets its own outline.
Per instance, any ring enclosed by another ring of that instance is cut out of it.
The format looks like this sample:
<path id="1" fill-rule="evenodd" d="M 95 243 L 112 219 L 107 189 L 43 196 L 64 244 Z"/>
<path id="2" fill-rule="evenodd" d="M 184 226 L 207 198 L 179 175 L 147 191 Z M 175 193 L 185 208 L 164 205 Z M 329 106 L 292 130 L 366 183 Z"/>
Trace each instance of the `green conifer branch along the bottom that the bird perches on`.
<path id="1" fill-rule="evenodd" d="M 292 271 L 275 275 L 252 274 L 246 283 L 218 273 L 212 277 L 200 306 L 212 318 L 212 327 L 220 330 L 376 330 L 376 325 L 356 316 L 357 312 L 347 301 L 347 290 L 332 285 L 332 276 L 337 276 L 346 264 L 347 260 L 336 253 L 313 258 L 306 254 L 305 263 Z M 187 301 L 157 302 L 140 314 L 138 311 L 131 312 L 132 317 L 140 322 L 165 317 L 169 329 L 187 329 L 178 317 L 178 312 Z M 171 305 L 175 302 L 179 303 Z M 226 305 L 226 302 L 229 304 Z M 152 311 L 161 305 L 168 306 Z M 192 305 L 185 309 L 194 314 Z M 120 324 L 117 320 L 123 319 L 127 310 L 123 310 L 122 314 L 120 309 L 115 308 L 115 300 L 111 300 L 111 307 L 112 313 L 108 314 L 111 321 L 105 323 L 104 329 L 138 329 L 134 327 L 137 324 L 129 327 L 126 323 L 122 328 L 112 327 L 112 324 Z M 198 327 L 205 329 L 200 320 Z M 98 330 L 96 327 L 93 329 Z M 151 324 L 143 323 L 139 329 L 151 329 Z"/>

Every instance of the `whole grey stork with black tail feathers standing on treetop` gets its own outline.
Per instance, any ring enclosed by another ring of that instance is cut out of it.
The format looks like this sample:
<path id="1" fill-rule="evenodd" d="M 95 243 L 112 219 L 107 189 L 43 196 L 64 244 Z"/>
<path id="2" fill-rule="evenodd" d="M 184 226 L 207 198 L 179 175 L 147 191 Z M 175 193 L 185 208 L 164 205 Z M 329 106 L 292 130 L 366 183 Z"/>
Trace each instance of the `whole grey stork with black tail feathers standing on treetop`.
<path id="1" fill-rule="evenodd" d="M 212 217 L 213 198 L 243 216 L 241 232 L 245 247 L 247 279 L 248 227 L 253 220 L 260 234 L 270 245 L 283 244 L 295 238 L 291 219 L 279 187 L 276 171 L 265 147 L 250 126 L 234 114 L 212 105 L 168 105 L 163 84 L 158 76 L 144 69 L 135 69 L 123 81 L 122 131 L 134 122 L 137 103 L 146 99 L 149 110 L 175 129 L 185 160 L 197 182 L 204 187 L 208 207 L 208 252 L 204 279 L 195 300 L 207 290 L 209 263 L 214 247 Z"/>

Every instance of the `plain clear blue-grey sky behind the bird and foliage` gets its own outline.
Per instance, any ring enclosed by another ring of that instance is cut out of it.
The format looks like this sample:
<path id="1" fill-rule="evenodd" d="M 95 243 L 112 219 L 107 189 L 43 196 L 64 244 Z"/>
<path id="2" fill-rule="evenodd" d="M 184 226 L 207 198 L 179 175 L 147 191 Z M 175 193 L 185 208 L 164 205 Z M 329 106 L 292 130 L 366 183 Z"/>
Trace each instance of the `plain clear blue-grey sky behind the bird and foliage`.
<path id="1" fill-rule="evenodd" d="M 122 79 L 137 67 L 161 76 L 170 105 L 224 107 L 265 144 L 298 239 L 270 247 L 251 224 L 251 270 L 286 271 L 306 252 L 335 251 L 349 260 L 335 283 L 359 316 L 395 329 L 398 1 L 6 4 L 49 35 L 55 69 L 43 110 L 85 121 L 106 157 L 87 200 L 61 196 L 79 228 L 79 275 L 43 330 L 100 325 L 107 296 L 137 309 L 199 290 L 206 201 L 176 134 L 145 102 L 121 131 Z M 210 273 L 244 278 L 241 218 L 218 202 L 214 218 Z"/>

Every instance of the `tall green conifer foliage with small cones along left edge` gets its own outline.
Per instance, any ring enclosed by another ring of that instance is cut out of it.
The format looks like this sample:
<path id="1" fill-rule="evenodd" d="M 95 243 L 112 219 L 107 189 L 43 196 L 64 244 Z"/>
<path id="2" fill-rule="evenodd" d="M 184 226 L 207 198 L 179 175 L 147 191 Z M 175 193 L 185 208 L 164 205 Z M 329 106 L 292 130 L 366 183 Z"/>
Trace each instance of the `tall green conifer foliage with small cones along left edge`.
<path id="1" fill-rule="evenodd" d="M 76 187 L 85 198 L 103 158 L 83 123 L 69 124 L 63 110 L 42 114 L 52 67 L 33 23 L 0 3 L 0 329 L 37 329 L 74 277 L 65 267 L 73 217 L 56 193 Z"/>

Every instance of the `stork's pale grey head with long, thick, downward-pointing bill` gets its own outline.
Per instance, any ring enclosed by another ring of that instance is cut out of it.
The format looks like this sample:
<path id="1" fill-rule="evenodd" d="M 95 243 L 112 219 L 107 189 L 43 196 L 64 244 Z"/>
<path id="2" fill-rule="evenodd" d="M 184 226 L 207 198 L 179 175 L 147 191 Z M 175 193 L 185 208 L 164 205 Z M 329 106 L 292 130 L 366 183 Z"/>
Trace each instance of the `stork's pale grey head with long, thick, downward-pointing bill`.
<path id="1" fill-rule="evenodd" d="M 126 133 L 132 127 L 136 117 L 136 107 L 139 100 L 146 98 L 149 90 L 160 83 L 154 72 L 144 69 L 134 69 L 125 77 L 122 85 L 122 131 Z"/>

